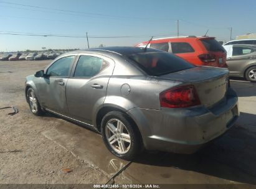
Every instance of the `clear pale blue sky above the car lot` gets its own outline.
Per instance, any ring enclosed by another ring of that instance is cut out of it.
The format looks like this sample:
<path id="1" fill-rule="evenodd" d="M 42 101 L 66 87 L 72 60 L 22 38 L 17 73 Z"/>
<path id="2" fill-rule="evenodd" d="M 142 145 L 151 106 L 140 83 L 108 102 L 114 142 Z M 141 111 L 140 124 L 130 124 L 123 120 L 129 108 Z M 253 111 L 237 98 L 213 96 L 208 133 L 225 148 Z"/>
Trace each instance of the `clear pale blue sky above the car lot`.
<path id="1" fill-rule="evenodd" d="M 60 11 L 62 10 L 62 11 Z M 0 51 L 46 48 L 87 48 L 86 38 L 41 37 L 11 34 L 72 36 L 130 36 L 89 38 L 90 47 L 135 45 L 151 35 L 207 35 L 229 40 L 256 33 L 256 1 L 219 0 L 0 0 Z M 134 37 L 136 36 L 136 37 Z M 156 37 L 155 37 L 156 38 Z"/>

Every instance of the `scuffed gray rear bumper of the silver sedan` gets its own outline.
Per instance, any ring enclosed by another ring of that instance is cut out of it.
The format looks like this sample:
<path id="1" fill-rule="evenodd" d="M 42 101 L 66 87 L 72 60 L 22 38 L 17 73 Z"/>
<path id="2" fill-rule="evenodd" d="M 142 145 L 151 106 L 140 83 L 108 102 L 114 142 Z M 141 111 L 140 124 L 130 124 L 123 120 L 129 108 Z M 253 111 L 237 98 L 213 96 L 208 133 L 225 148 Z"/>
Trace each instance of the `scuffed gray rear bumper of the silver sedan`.
<path id="1" fill-rule="evenodd" d="M 239 117 L 238 98 L 229 88 L 226 98 L 213 108 L 134 108 L 128 111 L 138 125 L 145 148 L 192 154 L 232 127 Z"/>

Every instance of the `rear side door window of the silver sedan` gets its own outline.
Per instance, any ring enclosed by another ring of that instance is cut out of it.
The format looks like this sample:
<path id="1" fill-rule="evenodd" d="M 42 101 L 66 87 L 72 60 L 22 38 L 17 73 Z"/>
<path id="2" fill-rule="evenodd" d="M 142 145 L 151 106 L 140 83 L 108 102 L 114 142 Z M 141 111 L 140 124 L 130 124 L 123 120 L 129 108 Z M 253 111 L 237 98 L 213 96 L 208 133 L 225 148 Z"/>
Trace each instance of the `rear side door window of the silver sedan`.
<path id="1" fill-rule="evenodd" d="M 102 58 L 92 56 L 80 56 L 77 67 L 75 68 L 75 77 L 92 77 L 107 68 L 108 62 Z"/>

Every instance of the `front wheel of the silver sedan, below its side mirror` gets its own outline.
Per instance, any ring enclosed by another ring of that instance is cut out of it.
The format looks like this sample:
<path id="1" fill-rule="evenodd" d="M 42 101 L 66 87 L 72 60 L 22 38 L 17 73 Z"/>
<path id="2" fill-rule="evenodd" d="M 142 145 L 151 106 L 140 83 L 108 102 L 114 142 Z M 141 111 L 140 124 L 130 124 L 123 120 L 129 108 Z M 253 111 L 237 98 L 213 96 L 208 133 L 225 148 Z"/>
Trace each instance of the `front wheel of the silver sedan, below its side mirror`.
<path id="1" fill-rule="evenodd" d="M 29 108 L 31 109 L 32 114 L 36 116 L 40 116 L 44 114 L 39 104 L 39 101 L 37 100 L 36 93 L 32 88 L 29 88 L 27 90 L 27 99 L 28 99 Z"/>

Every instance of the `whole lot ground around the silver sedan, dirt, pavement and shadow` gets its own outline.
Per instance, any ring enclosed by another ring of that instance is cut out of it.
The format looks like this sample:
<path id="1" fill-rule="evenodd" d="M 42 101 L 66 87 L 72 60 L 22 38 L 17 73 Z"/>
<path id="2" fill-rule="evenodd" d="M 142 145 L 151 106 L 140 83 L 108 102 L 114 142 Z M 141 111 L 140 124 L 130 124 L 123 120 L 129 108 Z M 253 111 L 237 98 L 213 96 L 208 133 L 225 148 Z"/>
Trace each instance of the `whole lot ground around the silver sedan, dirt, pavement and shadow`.
<path id="1" fill-rule="evenodd" d="M 111 155 L 100 135 L 52 114 L 32 115 L 27 75 L 45 61 L 0 62 L 0 183 L 106 183 L 127 162 Z M 117 183 L 256 184 L 256 84 L 232 80 L 241 116 L 227 134 L 194 155 L 145 152 Z M 63 168 L 72 172 L 64 173 Z"/>

